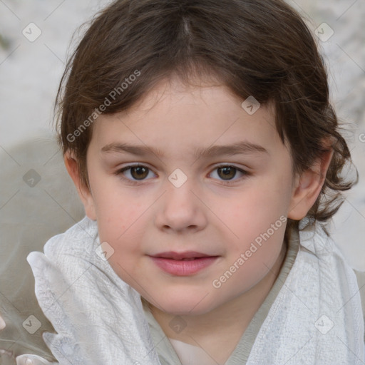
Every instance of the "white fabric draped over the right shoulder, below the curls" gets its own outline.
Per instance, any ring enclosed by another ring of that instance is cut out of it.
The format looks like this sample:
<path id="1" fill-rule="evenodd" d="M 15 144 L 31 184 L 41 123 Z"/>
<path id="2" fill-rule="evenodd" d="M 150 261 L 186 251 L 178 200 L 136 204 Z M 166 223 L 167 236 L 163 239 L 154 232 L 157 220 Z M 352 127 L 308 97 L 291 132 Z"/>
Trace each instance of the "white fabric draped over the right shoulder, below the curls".
<path id="1" fill-rule="evenodd" d="M 304 224 L 299 227 L 297 259 L 257 334 L 247 365 L 364 365 L 356 276 L 324 230 L 319 225 L 315 232 L 301 230 Z"/>

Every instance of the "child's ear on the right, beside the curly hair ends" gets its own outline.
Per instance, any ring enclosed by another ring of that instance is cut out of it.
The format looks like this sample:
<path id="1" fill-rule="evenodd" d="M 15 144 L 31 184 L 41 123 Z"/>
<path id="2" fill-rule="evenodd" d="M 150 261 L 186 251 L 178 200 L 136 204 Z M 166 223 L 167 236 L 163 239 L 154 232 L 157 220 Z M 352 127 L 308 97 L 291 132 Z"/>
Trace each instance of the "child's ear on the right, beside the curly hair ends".
<path id="1" fill-rule="evenodd" d="M 297 176 L 289 206 L 288 218 L 302 220 L 314 205 L 326 179 L 332 155 L 333 150 L 329 147 L 308 170 Z"/>

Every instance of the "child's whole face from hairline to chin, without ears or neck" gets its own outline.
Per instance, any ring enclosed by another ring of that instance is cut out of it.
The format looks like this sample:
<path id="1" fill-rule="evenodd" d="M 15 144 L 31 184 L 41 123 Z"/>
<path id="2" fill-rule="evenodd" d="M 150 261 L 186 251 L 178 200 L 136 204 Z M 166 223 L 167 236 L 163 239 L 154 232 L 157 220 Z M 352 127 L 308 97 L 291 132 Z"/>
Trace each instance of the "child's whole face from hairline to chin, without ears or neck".
<path id="1" fill-rule="evenodd" d="M 201 314 L 227 303 L 257 284 L 282 250 L 295 204 L 291 157 L 273 110 L 249 115 L 241 103 L 224 87 L 161 83 L 128 113 L 93 125 L 87 215 L 113 247 L 115 272 L 164 312 Z M 138 148 L 126 153 L 122 144 Z M 230 153 L 239 144 L 241 153 Z M 140 153 L 146 148 L 160 155 Z M 145 168 L 120 172 L 136 164 Z M 163 252 L 208 258 L 153 258 Z"/>

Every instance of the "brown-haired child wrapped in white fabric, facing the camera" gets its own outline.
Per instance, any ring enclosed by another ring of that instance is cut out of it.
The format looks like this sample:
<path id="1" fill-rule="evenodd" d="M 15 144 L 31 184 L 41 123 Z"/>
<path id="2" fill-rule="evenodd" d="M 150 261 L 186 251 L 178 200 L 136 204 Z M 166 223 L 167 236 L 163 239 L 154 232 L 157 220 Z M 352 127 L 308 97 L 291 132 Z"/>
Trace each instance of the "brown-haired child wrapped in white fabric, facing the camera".
<path id="1" fill-rule="evenodd" d="M 115 1 L 58 106 L 86 217 L 28 260 L 59 364 L 363 363 L 359 287 L 324 228 L 350 153 L 293 9 Z"/>

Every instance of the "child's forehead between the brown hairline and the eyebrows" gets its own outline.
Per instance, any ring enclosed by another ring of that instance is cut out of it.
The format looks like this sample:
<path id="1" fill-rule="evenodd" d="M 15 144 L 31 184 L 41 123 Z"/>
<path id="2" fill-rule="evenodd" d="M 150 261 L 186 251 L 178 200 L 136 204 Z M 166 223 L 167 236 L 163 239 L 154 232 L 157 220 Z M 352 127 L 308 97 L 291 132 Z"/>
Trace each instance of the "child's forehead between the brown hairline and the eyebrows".
<path id="1" fill-rule="evenodd" d="M 162 81 L 127 111 L 101 115 L 93 125 L 91 145 L 102 149 L 112 143 L 133 143 L 170 155 L 196 154 L 202 146 L 242 141 L 266 150 L 284 147 L 273 106 L 247 113 L 244 101 L 225 86 Z"/>

